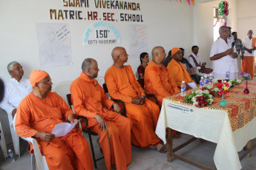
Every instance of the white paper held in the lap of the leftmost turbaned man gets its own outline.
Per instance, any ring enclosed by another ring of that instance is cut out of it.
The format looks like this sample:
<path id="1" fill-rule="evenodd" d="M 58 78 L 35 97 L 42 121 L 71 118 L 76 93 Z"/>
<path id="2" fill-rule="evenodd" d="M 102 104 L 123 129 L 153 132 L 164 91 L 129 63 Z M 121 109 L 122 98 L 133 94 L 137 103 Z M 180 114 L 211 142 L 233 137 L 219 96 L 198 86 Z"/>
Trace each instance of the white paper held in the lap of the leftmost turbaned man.
<path id="1" fill-rule="evenodd" d="M 53 132 L 51 132 L 55 137 L 62 137 L 68 134 L 78 123 L 79 120 L 74 122 L 73 124 L 70 123 L 59 123 L 53 128 Z"/>

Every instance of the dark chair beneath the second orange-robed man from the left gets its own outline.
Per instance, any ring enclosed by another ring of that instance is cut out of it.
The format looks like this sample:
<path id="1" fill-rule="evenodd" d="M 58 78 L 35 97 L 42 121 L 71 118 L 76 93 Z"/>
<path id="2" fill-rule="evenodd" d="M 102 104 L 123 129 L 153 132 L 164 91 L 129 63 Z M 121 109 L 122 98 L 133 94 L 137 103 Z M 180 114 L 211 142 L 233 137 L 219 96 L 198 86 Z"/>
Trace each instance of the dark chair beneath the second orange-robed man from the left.
<path id="1" fill-rule="evenodd" d="M 68 105 L 70 106 L 70 109 L 72 109 L 73 104 L 72 104 L 72 101 L 71 101 L 71 94 L 67 95 L 67 100 L 68 100 Z M 88 127 L 88 119 L 87 118 L 85 118 L 83 116 L 77 116 L 77 119 L 81 119 L 81 121 L 80 121 L 81 125 L 82 124 L 86 125 L 86 129 L 82 128 L 82 132 L 87 133 L 88 136 L 89 136 L 89 143 L 90 143 L 90 146 L 91 146 L 91 154 L 92 154 L 92 157 L 93 157 L 93 164 L 94 164 L 94 168 L 97 169 L 96 161 L 101 160 L 102 158 L 104 158 L 103 156 L 99 157 L 98 159 L 95 158 L 94 149 L 93 149 L 93 140 L 91 140 L 91 135 L 97 136 L 97 134 L 91 132 L 90 128 Z"/>

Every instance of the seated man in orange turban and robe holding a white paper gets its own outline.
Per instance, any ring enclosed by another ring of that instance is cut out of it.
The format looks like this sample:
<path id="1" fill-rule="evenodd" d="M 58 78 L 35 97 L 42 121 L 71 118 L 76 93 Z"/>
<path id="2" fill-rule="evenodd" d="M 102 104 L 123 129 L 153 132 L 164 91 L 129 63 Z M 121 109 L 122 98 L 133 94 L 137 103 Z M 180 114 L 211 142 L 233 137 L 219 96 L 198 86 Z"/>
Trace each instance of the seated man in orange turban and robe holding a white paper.
<path id="1" fill-rule="evenodd" d="M 81 129 L 68 135 L 54 137 L 51 132 L 64 120 L 74 123 L 76 116 L 68 104 L 55 92 L 47 72 L 34 70 L 30 74 L 33 92 L 19 104 L 16 113 L 16 133 L 20 137 L 34 137 L 49 169 L 93 169 L 90 148 Z M 31 146 L 30 152 L 33 152 Z"/>

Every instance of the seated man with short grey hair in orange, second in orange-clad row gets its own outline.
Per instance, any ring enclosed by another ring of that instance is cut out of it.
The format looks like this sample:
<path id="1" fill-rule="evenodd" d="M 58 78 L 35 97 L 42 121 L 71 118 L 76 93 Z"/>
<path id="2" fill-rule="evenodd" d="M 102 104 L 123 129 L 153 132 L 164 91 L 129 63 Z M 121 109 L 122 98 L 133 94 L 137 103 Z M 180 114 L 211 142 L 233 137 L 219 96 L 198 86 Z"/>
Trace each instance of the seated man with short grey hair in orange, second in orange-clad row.
<path id="1" fill-rule="evenodd" d="M 94 59 L 86 58 L 83 61 L 80 77 L 70 86 L 73 109 L 77 115 L 88 118 L 90 130 L 99 135 L 107 169 L 110 170 L 111 166 L 127 169 L 126 166 L 131 162 L 132 122 L 118 114 L 119 105 L 108 99 L 102 86 L 94 79 L 98 72 L 98 64 Z"/>

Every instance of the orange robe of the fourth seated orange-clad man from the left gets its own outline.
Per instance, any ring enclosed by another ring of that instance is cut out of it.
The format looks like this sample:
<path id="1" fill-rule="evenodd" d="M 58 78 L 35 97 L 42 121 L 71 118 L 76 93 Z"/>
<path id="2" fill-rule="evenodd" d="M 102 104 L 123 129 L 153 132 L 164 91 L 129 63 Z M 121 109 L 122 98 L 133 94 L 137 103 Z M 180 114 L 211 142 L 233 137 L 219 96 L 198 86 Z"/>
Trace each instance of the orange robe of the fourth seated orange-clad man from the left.
<path id="1" fill-rule="evenodd" d="M 157 97 L 160 108 L 163 98 L 180 92 L 174 79 L 168 74 L 168 69 L 163 64 L 159 67 L 154 61 L 151 61 L 145 68 L 144 81 L 145 92 Z"/>

